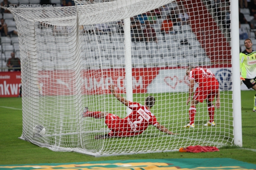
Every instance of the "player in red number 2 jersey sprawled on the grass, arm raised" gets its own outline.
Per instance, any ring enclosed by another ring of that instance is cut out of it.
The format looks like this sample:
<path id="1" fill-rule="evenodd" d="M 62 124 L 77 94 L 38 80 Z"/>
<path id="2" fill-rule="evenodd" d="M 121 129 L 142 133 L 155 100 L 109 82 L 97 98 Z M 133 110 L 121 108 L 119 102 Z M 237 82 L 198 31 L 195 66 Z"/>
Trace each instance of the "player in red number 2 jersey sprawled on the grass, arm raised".
<path id="1" fill-rule="evenodd" d="M 155 98 L 153 96 L 148 96 L 145 101 L 145 106 L 142 106 L 136 102 L 129 102 L 119 94 L 116 94 L 114 85 L 110 85 L 109 90 L 122 104 L 132 109 L 132 113 L 124 119 L 121 119 L 111 113 L 88 111 L 88 108 L 85 107 L 83 117 L 94 117 L 96 119 L 105 118 L 105 123 L 111 130 L 105 135 L 96 136 L 95 139 L 140 135 L 145 129 L 147 129 L 148 125 L 153 125 L 158 130 L 169 135 L 175 135 L 175 133 L 172 133 L 163 125 L 160 125 L 157 122 L 156 117 L 150 112 L 150 108 L 153 107 L 155 103 Z"/>

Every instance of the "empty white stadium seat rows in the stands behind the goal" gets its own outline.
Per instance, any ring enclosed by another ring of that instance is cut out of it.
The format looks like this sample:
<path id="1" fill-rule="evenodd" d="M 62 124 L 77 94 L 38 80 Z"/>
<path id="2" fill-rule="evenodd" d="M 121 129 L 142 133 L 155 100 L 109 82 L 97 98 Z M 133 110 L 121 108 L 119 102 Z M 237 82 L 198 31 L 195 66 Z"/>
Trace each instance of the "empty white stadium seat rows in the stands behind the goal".
<path id="1" fill-rule="evenodd" d="M 15 1 L 15 0 L 14 0 Z M 18 0 L 16 0 L 18 1 Z M 36 0 L 20 0 L 20 4 L 36 3 Z M 56 2 L 56 0 L 54 0 Z M 14 3 L 14 2 L 12 2 Z M 53 2 L 52 2 L 53 3 Z M 5 14 L 9 27 L 15 27 L 12 14 Z M 190 25 L 174 26 L 175 35 L 165 35 L 160 33 L 162 20 L 158 20 L 152 26 L 157 32 L 158 42 L 132 42 L 132 66 L 133 67 L 149 67 L 149 66 L 189 66 L 189 65 L 208 65 L 210 59 L 206 57 L 204 49 L 201 48 L 199 41 L 196 40 L 196 35 L 192 33 Z M 15 27 L 16 28 L 16 27 Z M 41 30 L 38 30 L 40 32 Z M 52 31 L 51 29 L 43 29 L 42 32 Z M 41 34 L 40 36 L 42 36 Z M 50 68 L 56 68 L 58 62 L 70 62 L 70 57 L 74 53 L 72 49 L 67 47 L 70 44 L 61 44 L 61 38 L 46 37 L 38 39 L 38 55 L 39 66 L 43 62 L 48 63 Z M 46 40 L 47 39 L 47 43 Z M 58 42 L 58 40 L 59 42 Z M 181 41 L 186 39 L 187 43 L 182 44 Z M 124 67 L 124 37 L 120 35 L 87 35 L 81 37 L 82 42 L 82 64 L 88 68 L 110 68 Z M 105 41 L 106 40 L 106 41 Z M 51 42 L 51 43 L 49 43 Z M 88 43 L 89 42 L 89 43 Z M 72 46 L 72 45 L 71 45 Z M 70 46 L 70 47 L 71 47 Z M 97 48 L 98 47 L 98 48 Z M 104 49 L 104 50 L 103 50 Z M 6 66 L 6 60 L 10 57 L 11 52 L 16 53 L 16 57 L 20 57 L 20 49 L 18 37 L 1 37 L 1 61 L 0 67 Z M 68 54 L 64 56 L 63 52 Z M 48 51 L 48 52 L 45 52 Z M 71 57 L 72 58 L 72 57 Z M 40 63 L 41 62 L 41 63 Z M 66 63 L 67 64 L 67 63 Z"/>

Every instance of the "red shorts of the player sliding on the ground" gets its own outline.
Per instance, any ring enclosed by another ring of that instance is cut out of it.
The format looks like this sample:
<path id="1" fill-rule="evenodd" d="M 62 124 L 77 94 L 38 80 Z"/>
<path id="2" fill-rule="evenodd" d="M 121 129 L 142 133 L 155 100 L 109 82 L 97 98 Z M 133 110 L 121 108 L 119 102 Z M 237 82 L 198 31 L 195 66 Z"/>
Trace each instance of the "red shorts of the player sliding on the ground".
<path id="1" fill-rule="evenodd" d="M 108 126 L 108 129 L 111 130 L 111 132 L 108 133 L 110 136 L 126 137 L 138 135 L 137 133 L 128 132 L 124 125 L 124 119 L 121 119 L 117 115 L 108 113 L 105 117 L 105 123 Z"/>

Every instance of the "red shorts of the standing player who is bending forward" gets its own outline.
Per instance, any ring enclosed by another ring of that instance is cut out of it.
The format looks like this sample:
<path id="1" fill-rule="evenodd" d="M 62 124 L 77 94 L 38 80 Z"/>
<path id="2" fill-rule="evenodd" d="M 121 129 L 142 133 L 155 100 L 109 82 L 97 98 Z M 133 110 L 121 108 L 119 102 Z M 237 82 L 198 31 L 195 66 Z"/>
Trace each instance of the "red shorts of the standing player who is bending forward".
<path id="1" fill-rule="evenodd" d="M 218 90 L 219 90 L 218 86 L 198 87 L 194 92 L 193 99 L 202 103 L 207 98 L 212 102 L 216 94 L 218 94 Z"/>

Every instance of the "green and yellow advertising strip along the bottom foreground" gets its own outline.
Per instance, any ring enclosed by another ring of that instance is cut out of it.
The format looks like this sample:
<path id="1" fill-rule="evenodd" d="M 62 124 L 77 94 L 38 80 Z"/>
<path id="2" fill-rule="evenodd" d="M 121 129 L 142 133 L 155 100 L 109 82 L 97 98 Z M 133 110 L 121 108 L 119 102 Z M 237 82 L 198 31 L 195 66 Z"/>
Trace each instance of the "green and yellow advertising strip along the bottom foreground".
<path id="1" fill-rule="evenodd" d="M 145 159 L 76 162 L 62 164 L 0 165 L 0 170 L 255 170 L 250 164 L 230 158 Z"/>

